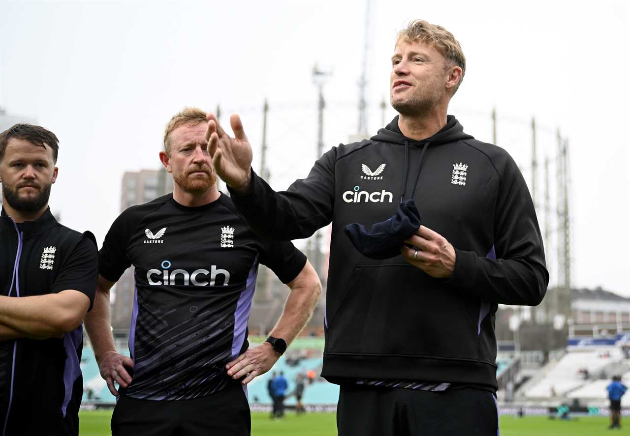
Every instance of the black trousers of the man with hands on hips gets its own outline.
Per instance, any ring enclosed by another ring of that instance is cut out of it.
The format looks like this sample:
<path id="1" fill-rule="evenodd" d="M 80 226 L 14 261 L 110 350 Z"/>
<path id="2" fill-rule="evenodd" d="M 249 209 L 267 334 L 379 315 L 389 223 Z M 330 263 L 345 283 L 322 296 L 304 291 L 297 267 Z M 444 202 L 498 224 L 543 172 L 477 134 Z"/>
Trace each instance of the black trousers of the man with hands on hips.
<path id="1" fill-rule="evenodd" d="M 249 436 L 249 403 L 239 382 L 193 400 L 155 401 L 120 396 L 112 436 Z"/>

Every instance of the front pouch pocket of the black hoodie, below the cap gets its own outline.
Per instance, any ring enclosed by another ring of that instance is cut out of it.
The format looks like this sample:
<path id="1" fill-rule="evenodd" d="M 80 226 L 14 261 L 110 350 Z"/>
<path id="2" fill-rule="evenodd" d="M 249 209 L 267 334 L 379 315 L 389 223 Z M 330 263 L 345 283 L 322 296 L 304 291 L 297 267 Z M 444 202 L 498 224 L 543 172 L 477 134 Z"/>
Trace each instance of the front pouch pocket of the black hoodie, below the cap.
<path id="1" fill-rule="evenodd" d="M 329 323 L 328 352 L 474 359 L 479 301 L 411 265 L 358 266 Z"/>

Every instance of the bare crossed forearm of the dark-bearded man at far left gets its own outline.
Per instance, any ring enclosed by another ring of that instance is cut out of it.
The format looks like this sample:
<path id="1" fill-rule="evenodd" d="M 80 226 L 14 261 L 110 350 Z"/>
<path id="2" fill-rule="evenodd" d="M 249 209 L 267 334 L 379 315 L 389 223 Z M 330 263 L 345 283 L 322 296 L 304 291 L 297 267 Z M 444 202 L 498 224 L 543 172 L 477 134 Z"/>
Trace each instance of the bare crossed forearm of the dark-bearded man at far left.
<path id="1" fill-rule="evenodd" d="M 89 297 L 74 289 L 28 297 L 0 296 L 0 340 L 59 338 L 79 327 Z"/>

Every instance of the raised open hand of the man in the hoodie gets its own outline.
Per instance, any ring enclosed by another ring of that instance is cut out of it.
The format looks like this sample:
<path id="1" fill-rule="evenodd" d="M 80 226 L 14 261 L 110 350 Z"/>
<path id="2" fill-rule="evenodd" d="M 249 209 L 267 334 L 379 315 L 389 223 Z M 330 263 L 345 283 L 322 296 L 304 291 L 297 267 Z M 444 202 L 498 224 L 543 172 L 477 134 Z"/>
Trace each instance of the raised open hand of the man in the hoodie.
<path id="1" fill-rule="evenodd" d="M 207 118 L 205 139 L 208 141 L 208 152 L 212 156 L 214 170 L 234 191 L 247 192 L 251 183 L 251 145 L 243 130 L 241 118 L 236 114 L 230 117 L 234 138 L 223 130 L 214 114 L 208 114 Z"/>

